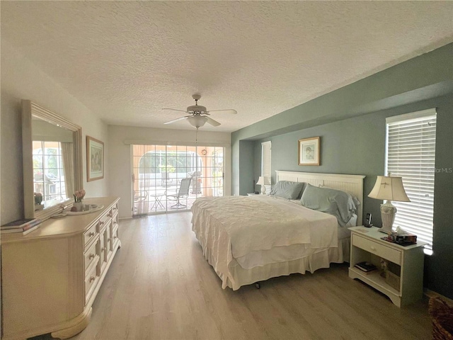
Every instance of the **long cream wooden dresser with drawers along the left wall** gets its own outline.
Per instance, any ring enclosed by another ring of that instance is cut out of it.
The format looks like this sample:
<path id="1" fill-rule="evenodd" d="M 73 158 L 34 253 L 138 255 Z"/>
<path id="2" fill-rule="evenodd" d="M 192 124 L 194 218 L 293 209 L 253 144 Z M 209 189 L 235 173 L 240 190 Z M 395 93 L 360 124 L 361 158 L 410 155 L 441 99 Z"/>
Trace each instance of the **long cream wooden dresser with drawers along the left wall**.
<path id="1" fill-rule="evenodd" d="M 88 198 L 104 208 L 49 219 L 30 234 L 1 236 L 2 339 L 82 331 L 121 242 L 119 198 Z"/>

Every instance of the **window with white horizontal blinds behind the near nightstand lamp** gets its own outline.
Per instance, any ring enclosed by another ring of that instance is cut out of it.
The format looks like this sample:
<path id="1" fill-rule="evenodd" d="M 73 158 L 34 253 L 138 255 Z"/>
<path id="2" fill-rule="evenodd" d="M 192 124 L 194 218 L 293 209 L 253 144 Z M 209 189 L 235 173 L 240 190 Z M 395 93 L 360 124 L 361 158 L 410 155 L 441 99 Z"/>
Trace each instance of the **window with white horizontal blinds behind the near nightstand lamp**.
<path id="1" fill-rule="evenodd" d="M 432 249 L 434 210 L 435 109 L 386 118 L 386 171 L 403 178 L 411 202 L 392 202 L 394 225 L 417 235 Z"/>

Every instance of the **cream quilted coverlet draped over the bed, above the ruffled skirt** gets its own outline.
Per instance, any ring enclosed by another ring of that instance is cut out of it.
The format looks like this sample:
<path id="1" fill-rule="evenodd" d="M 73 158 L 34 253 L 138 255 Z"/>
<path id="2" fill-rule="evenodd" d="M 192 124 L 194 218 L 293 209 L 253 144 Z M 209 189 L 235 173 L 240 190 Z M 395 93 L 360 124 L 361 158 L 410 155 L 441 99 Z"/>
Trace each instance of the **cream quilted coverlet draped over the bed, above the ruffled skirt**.
<path id="1" fill-rule="evenodd" d="M 193 231 L 206 259 L 222 279 L 234 281 L 229 264 L 253 251 L 276 246 L 338 245 L 336 217 L 269 196 L 198 198 Z M 235 261 L 236 262 L 236 261 Z"/>

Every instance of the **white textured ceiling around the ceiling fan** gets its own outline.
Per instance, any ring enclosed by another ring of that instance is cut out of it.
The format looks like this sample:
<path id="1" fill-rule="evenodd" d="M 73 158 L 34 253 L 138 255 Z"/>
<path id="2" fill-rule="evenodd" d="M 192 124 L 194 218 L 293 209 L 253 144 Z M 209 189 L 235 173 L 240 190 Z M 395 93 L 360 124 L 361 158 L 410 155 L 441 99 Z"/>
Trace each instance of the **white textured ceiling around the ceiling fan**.
<path id="1" fill-rule="evenodd" d="M 453 41 L 452 1 L 1 1 L 1 38 L 114 125 L 231 132 Z M 34 98 L 39 101 L 39 98 Z"/>

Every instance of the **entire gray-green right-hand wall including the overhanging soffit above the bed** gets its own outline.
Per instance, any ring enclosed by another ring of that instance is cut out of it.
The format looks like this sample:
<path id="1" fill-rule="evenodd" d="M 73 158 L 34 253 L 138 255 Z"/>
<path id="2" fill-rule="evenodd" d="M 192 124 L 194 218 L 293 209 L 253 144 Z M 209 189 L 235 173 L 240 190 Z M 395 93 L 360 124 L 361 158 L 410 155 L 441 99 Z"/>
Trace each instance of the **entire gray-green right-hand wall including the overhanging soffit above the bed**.
<path id="1" fill-rule="evenodd" d="M 253 190 L 250 174 L 243 169 L 252 166 L 253 178 L 258 178 L 260 142 L 272 140 L 273 171 L 363 174 L 367 176 L 366 195 L 376 176 L 384 174 L 385 118 L 433 107 L 437 108 L 436 169 L 441 172 L 435 174 L 434 254 L 425 256 L 424 284 L 453 298 L 453 226 L 449 221 L 453 210 L 453 174 L 449 171 L 453 168 L 453 44 L 234 132 L 234 152 L 241 154 L 244 141 L 255 142 L 251 164 L 246 166 L 246 157 L 241 157 L 241 163 L 233 162 L 233 168 L 240 167 L 240 171 L 233 174 L 232 191 Z M 297 140 L 314 136 L 321 137 L 321 166 L 298 166 Z M 244 152 L 250 153 L 248 143 Z M 365 196 L 364 211 L 372 212 L 379 225 L 379 201 Z"/>

